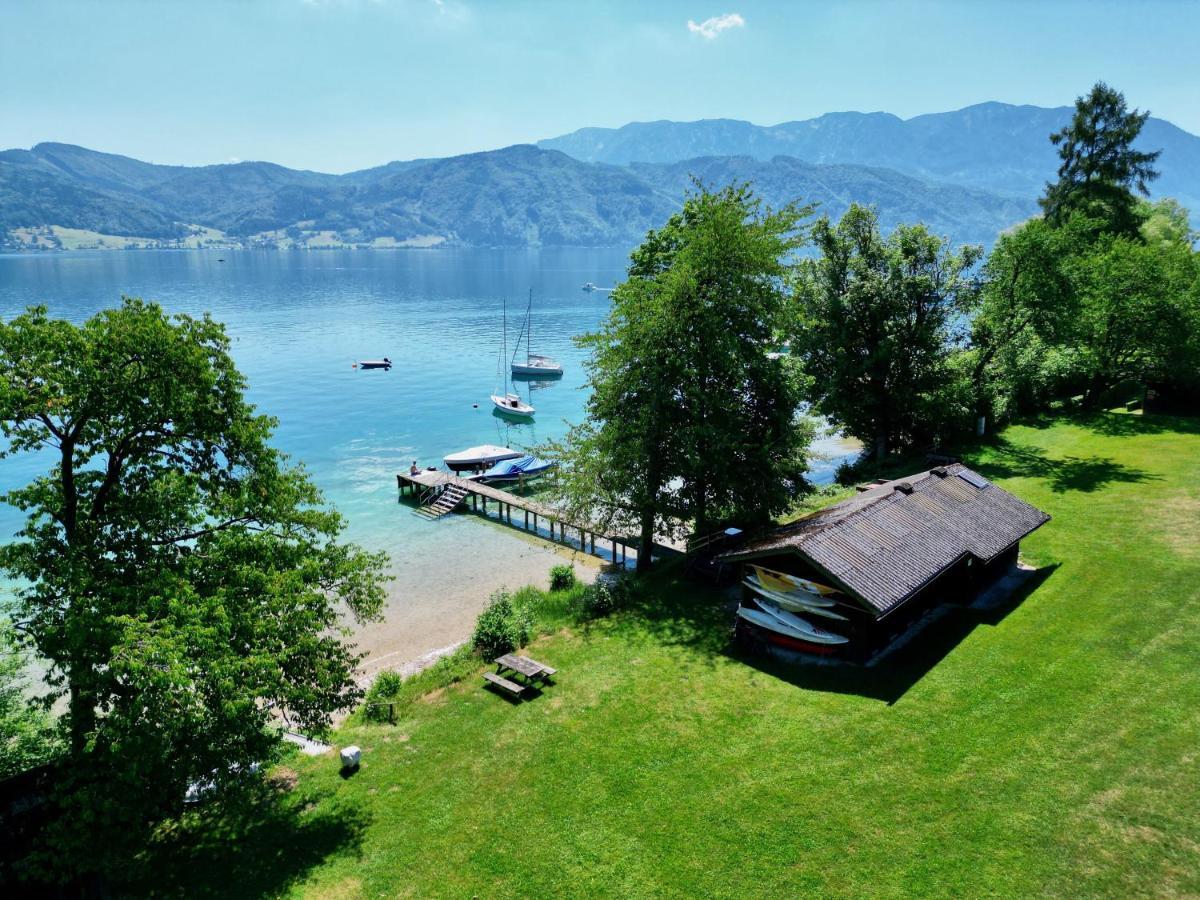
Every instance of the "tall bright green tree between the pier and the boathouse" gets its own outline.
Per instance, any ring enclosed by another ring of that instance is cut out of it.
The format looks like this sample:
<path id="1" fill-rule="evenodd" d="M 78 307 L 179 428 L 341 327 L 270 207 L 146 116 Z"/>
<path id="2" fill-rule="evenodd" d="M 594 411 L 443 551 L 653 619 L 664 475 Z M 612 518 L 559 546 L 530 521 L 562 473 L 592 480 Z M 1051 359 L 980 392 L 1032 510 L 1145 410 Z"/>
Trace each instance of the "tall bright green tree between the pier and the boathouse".
<path id="1" fill-rule="evenodd" d="M 551 449 L 577 518 L 635 528 L 648 548 L 680 522 L 767 521 L 803 487 L 802 376 L 769 350 L 806 215 L 764 209 L 746 185 L 701 186 L 634 252 L 608 318 L 581 338 L 587 421 Z"/>

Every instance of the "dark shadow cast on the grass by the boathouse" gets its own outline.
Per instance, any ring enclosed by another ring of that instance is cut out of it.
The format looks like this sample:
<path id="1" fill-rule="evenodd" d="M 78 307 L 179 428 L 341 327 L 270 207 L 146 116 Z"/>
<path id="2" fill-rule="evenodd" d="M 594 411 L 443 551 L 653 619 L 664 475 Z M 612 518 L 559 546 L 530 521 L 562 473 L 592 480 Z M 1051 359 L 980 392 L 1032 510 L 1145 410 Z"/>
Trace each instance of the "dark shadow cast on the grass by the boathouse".
<path id="1" fill-rule="evenodd" d="M 1003 622 L 1057 568 L 1056 563 L 1027 571 L 1015 586 L 1000 589 L 998 595 L 997 588 L 988 589 L 967 606 L 943 605 L 931 610 L 866 665 L 808 661 L 798 654 L 781 656 L 739 644 L 731 646 L 728 655 L 797 688 L 852 694 L 893 706 L 972 631 Z M 980 677 L 986 676 L 980 673 Z"/>

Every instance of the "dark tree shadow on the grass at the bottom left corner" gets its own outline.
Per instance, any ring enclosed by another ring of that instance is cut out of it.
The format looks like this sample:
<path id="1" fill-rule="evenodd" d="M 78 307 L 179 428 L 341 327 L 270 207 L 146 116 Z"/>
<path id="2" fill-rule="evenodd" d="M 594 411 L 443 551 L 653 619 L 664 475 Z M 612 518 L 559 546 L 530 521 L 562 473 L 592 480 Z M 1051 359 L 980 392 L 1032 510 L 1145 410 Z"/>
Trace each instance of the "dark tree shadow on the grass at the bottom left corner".
<path id="1" fill-rule="evenodd" d="M 277 896 L 332 854 L 358 852 L 367 820 L 336 796 L 262 782 L 162 829 L 126 886 L 138 896 Z"/>

